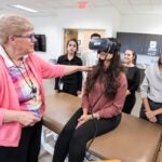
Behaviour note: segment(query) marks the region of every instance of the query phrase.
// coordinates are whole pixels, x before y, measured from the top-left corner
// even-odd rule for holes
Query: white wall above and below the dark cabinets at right
[[[118,31],[162,35],[161,14],[122,14]],[[137,62],[150,64],[156,62],[156,56],[138,55]]]

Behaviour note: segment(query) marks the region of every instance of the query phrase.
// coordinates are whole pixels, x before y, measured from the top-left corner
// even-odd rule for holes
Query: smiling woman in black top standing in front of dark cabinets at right
[[[133,50],[130,49],[125,50],[123,62],[127,79],[127,91],[125,103],[122,110],[125,113],[131,113],[135,105],[136,102],[135,92],[137,91],[140,82],[140,71],[136,67],[136,59],[137,55]]]

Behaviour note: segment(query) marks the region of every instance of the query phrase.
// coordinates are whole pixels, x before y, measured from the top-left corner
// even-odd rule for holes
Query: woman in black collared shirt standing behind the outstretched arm
[[[79,65],[82,66],[82,60],[77,56],[78,41],[70,39],[67,42],[67,53],[62,55],[57,59],[57,64],[63,65]],[[72,95],[80,95],[82,89],[82,72],[78,71],[63,78],[56,78],[55,90],[58,92],[65,92]]]

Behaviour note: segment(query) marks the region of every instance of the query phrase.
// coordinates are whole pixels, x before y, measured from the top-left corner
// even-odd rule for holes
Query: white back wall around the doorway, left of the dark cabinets
[[[57,58],[63,54],[64,28],[105,29],[106,37],[116,36],[120,14],[111,9],[58,10],[54,16],[30,17],[36,33],[46,36],[46,53],[38,52],[44,59]]]

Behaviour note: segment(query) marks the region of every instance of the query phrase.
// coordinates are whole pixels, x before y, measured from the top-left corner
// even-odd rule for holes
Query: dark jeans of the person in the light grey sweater
[[[151,110],[157,110],[157,109],[162,108],[162,103],[154,103],[149,98],[148,98],[148,102],[149,102],[149,106],[150,106]],[[145,119],[145,120],[148,120],[146,114],[145,114],[144,104],[141,104],[139,117]],[[162,124],[162,114],[158,114],[156,117],[157,117],[157,123]]]

